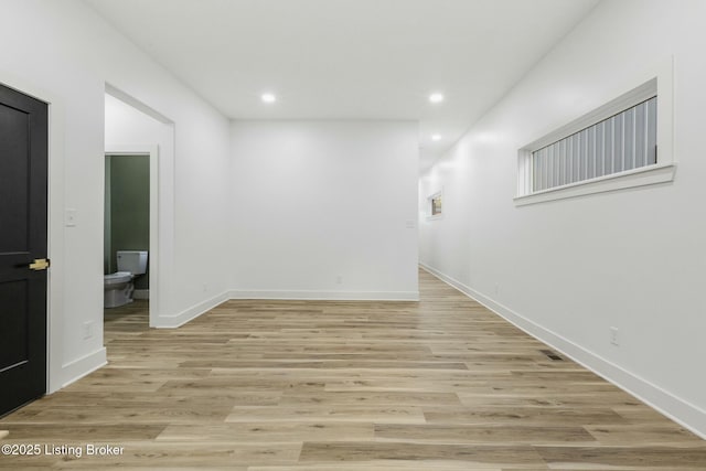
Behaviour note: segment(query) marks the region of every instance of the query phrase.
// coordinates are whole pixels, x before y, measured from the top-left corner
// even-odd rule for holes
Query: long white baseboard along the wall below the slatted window
[[[527,334],[546,343],[706,440],[706,410],[584,349],[570,340],[545,329],[441,271],[421,263],[419,265],[424,270],[483,304]]]

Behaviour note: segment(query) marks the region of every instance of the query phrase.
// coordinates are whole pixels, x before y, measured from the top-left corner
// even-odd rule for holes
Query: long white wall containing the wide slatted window
[[[603,1],[419,185],[446,196],[443,218],[420,220],[425,265],[702,436],[704,18],[703,1]],[[513,204],[517,149],[672,56],[673,182]]]

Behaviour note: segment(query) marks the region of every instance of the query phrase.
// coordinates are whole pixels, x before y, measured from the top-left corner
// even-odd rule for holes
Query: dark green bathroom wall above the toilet
[[[149,250],[149,157],[106,157],[105,200],[104,271],[108,274],[118,270],[116,260],[117,250]],[[136,279],[136,289],[149,289],[148,274]]]

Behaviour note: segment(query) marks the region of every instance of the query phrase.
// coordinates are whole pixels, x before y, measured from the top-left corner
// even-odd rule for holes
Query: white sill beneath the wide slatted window
[[[635,186],[665,183],[674,180],[675,172],[676,163],[657,163],[655,165],[641,167],[627,172],[599,176],[597,179],[557,186],[523,196],[515,196],[514,202],[515,206],[525,206],[528,204],[565,200],[568,197],[584,196],[593,193],[605,193]]]

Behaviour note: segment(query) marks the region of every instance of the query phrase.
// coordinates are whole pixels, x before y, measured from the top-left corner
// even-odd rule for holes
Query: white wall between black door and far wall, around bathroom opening
[[[103,347],[106,83],[174,122],[173,275],[178,324],[224,299],[228,121],[83,2],[8,0],[0,83],[50,101],[50,389],[105,362]],[[203,182],[207,182],[204,184]],[[64,208],[77,210],[64,227]],[[204,290],[203,286],[206,286]],[[84,339],[85,322],[95,334]]]

